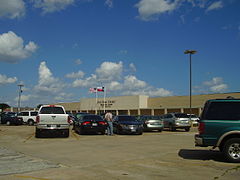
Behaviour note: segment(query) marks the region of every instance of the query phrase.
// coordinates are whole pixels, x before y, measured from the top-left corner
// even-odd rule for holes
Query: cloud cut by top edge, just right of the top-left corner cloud
[[[66,9],[75,0],[32,0],[35,8],[41,8],[43,14],[52,13]]]

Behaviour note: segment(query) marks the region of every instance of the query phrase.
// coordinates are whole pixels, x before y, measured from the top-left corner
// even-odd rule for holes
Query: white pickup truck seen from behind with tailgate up
[[[42,105],[36,117],[35,137],[42,137],[44,131],[61,132],[64,137],[69,137],[70,121],[63,106]]]

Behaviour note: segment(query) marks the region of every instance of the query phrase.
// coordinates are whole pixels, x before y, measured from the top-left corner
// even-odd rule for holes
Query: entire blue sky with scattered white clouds
[[[0,103],[239,92],[239,0],[0,0]],[[103,93],[98,93],[103,97]]]

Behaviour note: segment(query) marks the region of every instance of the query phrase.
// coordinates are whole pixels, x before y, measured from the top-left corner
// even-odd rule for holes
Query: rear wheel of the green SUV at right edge
[[[223,146],[223,154],[229,162],[240,162],[240,138],[227,140]]]

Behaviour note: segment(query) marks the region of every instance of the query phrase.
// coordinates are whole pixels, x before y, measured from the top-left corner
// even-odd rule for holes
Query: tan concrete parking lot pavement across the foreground
[[[36,139],[34,126],[0,126],[0,179],[239,179],[239,164],[194,147],[196,132]]]

